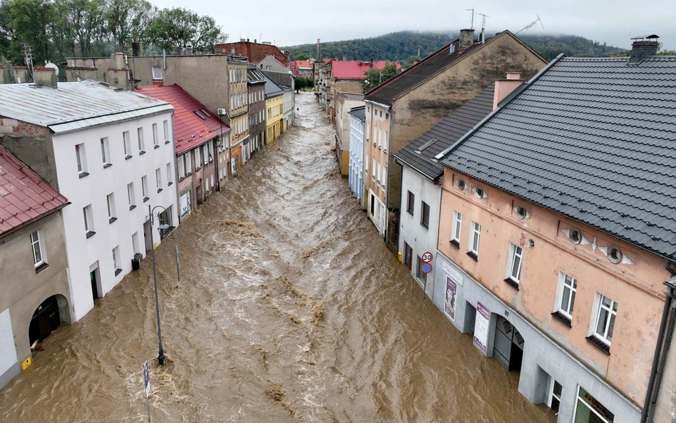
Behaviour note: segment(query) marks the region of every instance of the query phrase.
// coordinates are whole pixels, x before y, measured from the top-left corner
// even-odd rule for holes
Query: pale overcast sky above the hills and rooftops
[[[272,41],[277,46],[341,41],[379,36],[394,31],[453,31],[471,24],[481,29],[486,14],[486,31],[494,34],[508,29],[528,34],[575,34],[629,49],[630,38],[657,34],[665,49],[676,49],[675,0],[150,0],[160,9],[187,7],[216,19],[228,41],[240,38]]]

